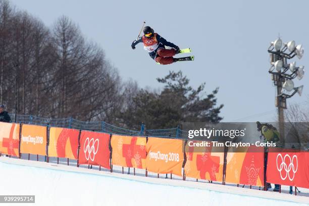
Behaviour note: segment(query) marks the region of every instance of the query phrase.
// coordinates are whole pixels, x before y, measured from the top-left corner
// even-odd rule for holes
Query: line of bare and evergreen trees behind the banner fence
[[[185,121],[219,122],[215,89],[202,97],[181,72],[158,81],[162,91],[141,89],[136,81],[122,81],[106,60],[104,49],[87,41],[66,16],[52,27],[0,0],[0,104],[10,113],[39,117],[73,117],[139,128],[175,127]],[[19,65],[17,68],[15,65]]]

